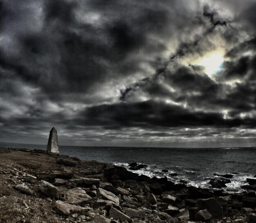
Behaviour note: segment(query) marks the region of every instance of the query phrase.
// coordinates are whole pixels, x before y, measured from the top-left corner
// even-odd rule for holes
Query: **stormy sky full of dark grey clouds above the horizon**
[[[0,0],[0,141],[256,146],[256,1]]]

